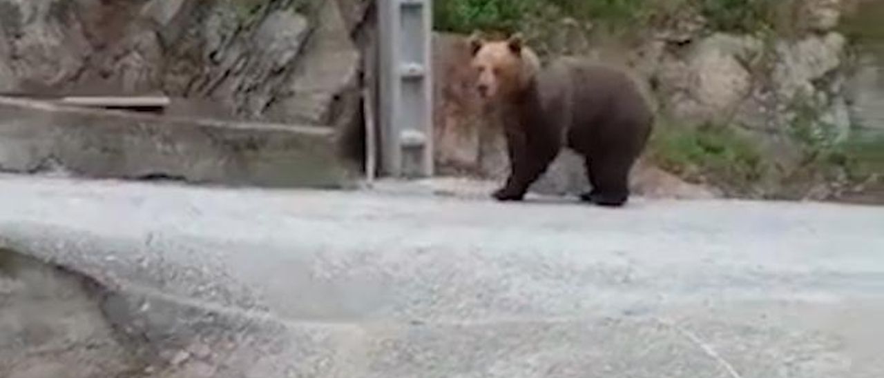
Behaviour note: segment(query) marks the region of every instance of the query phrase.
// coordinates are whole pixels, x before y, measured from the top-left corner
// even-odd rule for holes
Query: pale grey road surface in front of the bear
[[[884,376],[884,208],[389,187],[4,177],[0,246],[115,288],[149,376]]]

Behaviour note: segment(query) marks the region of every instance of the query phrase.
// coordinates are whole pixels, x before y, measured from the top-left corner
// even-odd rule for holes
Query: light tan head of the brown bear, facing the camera
[[[484,100],[518,95],[537,75],[537,55],[522,42],[521,34],[502,41],[485,41],[481,34],[469,37],[472,66],[476,70],[476,91]]]

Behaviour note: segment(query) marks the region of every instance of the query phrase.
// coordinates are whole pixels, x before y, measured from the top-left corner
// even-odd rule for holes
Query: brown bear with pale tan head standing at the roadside
[[[522,200],[561,147],[583,155],[591,192],[580,198],[619,207],[629,171],[651,134],[653,113],[626,72],[576,58],[542,67],[520,34],[486,42],[470,37],[476,90],[503,125],[510,174],[492,195]]]

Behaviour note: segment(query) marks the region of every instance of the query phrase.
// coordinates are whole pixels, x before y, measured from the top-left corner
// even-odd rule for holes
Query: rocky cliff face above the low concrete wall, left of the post
[[[351,35],[368,4],[0,0],[0,91],[163,92],[188,113],[343,125],[359,109]]]

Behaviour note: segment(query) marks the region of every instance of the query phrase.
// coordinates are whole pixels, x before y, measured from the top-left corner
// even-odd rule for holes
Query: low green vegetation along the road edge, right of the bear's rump
[[[884,133],[853,132],[837,140],[834,126],[819,122],[816,110],[796,110],[785,128],[795,162],[785,168],[770,159],[759,137],[739,127],[689,127],[660,123],[648,157],[660,168],[690,182],[710,184],[735,196],[801,198],[825,185],[833,193],[850,193],[864,185],[884,185]]]

